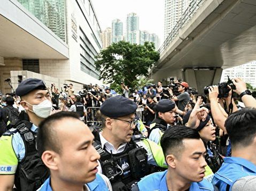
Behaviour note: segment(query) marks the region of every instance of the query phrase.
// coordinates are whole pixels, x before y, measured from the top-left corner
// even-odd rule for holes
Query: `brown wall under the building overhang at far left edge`
[[[22,70],[22,60],[18,57],[4,58],[4,65],[0,65],[0,91],[11,93],[11,87],[4,80],[11,77],[11,70]]]

